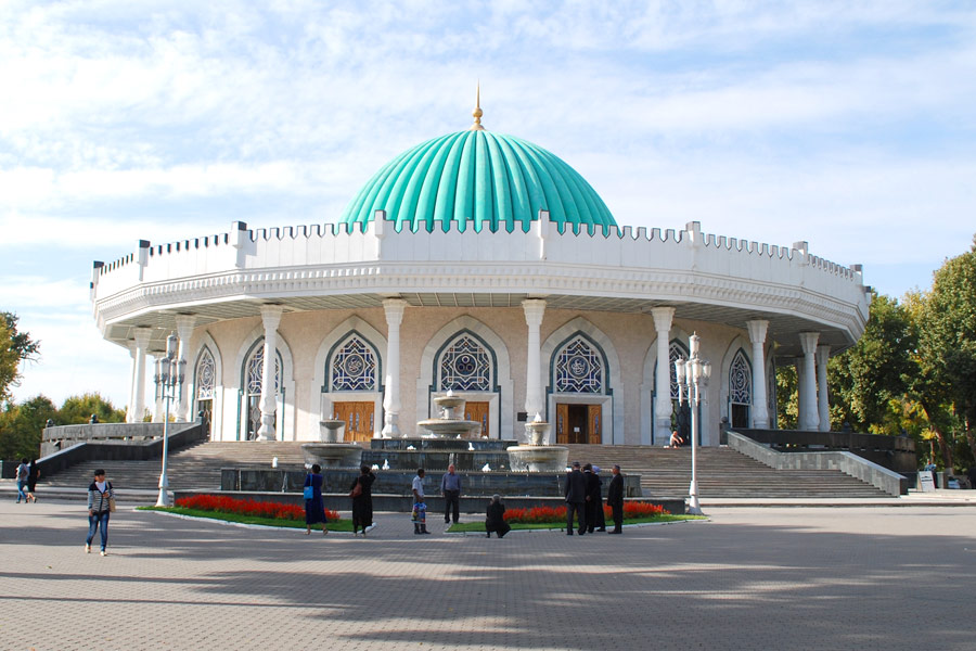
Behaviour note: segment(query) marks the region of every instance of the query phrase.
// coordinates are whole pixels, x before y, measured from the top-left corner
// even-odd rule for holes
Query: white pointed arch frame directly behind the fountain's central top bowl
[[[488,390],[453,391],[468,401],[487,401],[492,414],[489,418],[489,438],[516,438],[512,367],[509,360],[509,347],[495,330],[470,315],[451,320],[440,328],[427,341],[421,355],[420,378],[416,380],[416,414],[418,418],[429,418],[434,413],[434,398],[444,395],[441,390],[442,372],[438,368],[445,353],[463,337],[470,337],[473,344],[484,348],[490,358],[490,380]],[[474,346],[473,346],[474,347]],[[484,384],[479,385],[480,387]]]

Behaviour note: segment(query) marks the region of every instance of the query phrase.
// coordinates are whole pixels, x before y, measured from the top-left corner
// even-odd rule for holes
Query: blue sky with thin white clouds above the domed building
[[[92,260],[334,220],[478,79],[484,125],[621,225],[806,240],[897,297],[976,233],[973,3],[7,0],[0,309],[41,341],[15,398],[128,401]]]

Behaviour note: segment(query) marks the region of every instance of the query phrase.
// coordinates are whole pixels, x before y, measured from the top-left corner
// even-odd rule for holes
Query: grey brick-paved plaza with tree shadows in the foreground
[[[0,502],[0,649],[972,649],[976,507],[370,539]]]

